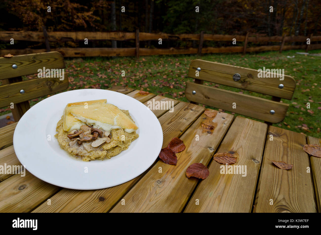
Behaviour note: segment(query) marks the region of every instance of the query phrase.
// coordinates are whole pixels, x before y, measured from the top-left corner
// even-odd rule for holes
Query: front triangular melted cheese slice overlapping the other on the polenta
[[[83,106],[75,106],[68,110],[74,118],[81,122],[105,131],[123,128],[127,133],[132,133],[138,129],[125,113],[112,104],[96,103],[88,105],[88,109],[84,109]]]

